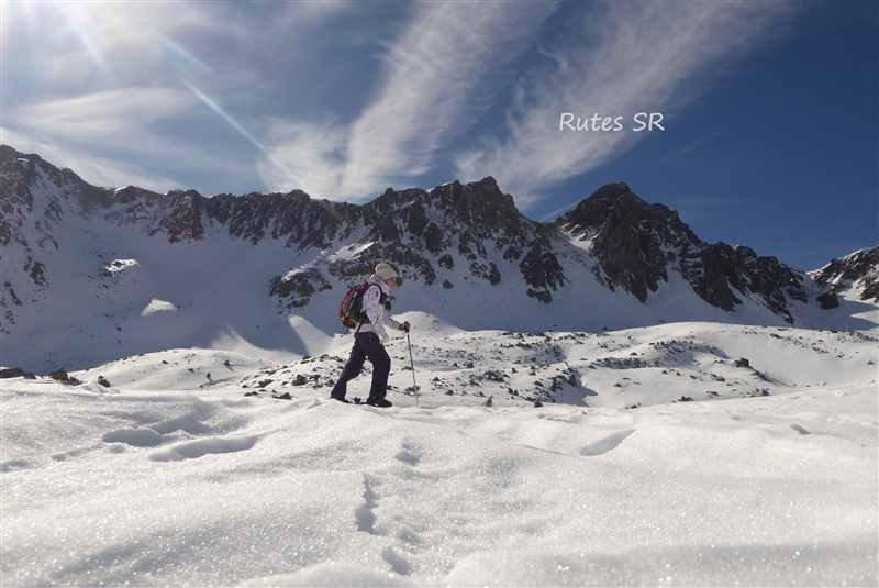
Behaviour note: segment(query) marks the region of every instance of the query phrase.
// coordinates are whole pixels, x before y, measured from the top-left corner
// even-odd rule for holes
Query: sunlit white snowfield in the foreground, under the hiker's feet
[[[404,318],[421,408],[404,339],[386,410],[327,398],[349,337],[0,380],[3,586],[876,585],[875,336]],[[565,402],[522,398],[565,368]]]

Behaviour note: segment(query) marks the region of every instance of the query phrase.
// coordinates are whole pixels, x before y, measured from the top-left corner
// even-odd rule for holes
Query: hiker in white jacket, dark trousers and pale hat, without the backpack
[[[372,364],[372,386],[366,403],[382,408],[392,406],[385,398],[388,392],[388,374],[391,370],[391,358],[385,351],[385,342],[388,341],[385,328],[409,332],[409,322],[400,323],[388,317],[391,308],[389,301],[391,289],[401,284],[399,274],[391,265],[382,263],[376,266],[363,293],[363,311],[366,319],[354,332],[354,348],[338,381],[333,387],[331,398],[348,402],[345,400],[348,380],[356,378],[364,367],[364,360],[369,359]]]

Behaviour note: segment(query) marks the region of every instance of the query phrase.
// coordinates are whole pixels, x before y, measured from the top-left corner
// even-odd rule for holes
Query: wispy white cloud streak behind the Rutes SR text
[[[594,8],[594,7],[592,7]],[[694,78],[752,46],[787,2],[607,1],[583,11],[549,62],[522,80],[507,134],[460,154],[469,179],[486,174],[527,207],[554,184],[581,175],[646,133],[559,132],[561,112],[624,115],[670,111],[698,93]]]

